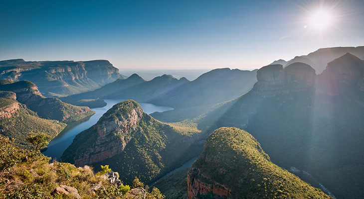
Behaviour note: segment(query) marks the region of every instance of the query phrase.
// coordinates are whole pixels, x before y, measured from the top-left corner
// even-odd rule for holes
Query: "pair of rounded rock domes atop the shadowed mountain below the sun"
[[[257,80],[253,91],[271,97],[281,93],[312,90],[316,73],[311,66],[300,62],[284,69],[280,64],[268,65],[257,71]]]

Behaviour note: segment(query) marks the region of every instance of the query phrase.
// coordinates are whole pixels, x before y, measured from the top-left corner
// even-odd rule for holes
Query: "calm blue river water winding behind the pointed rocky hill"
[[[49,142],[47,145],[48,149],[44,151],[43,154],[48,157],[52,157],[52,159],[59,160],[63,152],[69,145],[71,145],[73,139],[78,133],[96,124],[96,122],[107,110],[109,110],[116,103],[124,101],[124,99],[104,101],[107,103],[106,106],[101,108],[92,108],[92,110],[96,112],[95,114],[79,121],[69,123],[52,141]],[[152,103],[140,103],[140,105],[142,106],[144,112],[148,114],[153,112],[164,112],[173,109],[171,107],[158,106]]]

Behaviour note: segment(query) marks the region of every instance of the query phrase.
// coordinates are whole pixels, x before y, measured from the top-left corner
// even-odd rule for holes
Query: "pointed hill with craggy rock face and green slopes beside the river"
[[[126,100],[78,134],[61,159],[77,166],[109,165],[123,182],[138,177],[150,183],[199,154],[204,136],[197,133],[162,123]]]

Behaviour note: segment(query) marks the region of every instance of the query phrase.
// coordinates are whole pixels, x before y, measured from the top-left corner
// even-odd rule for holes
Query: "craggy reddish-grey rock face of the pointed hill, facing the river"
[[[77,166],[89,165],[121,153],[132,138],[131,131],[143,117],[143,109],[133,100],[118,103],[108,110],[91,128],[97,130],[93,145],[74,158]],[[113,112],[115,112],[113,114]],[[117,139],[117,136],[119,139]]]

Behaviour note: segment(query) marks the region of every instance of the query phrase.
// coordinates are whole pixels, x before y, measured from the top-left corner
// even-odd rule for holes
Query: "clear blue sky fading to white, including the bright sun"
[[[363,10],[364,0],[1,0],[0,60],[253,70],[363,46]]]

